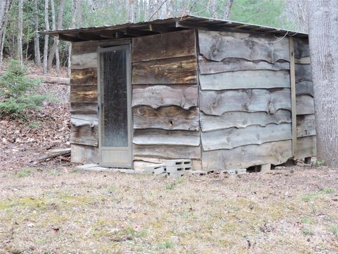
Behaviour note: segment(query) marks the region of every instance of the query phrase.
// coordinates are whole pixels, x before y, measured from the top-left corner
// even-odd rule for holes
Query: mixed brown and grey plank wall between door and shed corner
[[[132,39],[134,167],[193,159],[201,169],[195,30]]]

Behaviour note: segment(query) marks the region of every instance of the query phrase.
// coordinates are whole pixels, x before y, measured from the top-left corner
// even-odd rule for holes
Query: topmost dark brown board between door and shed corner
[[[196,56],[194,30],[168,32],[132,39],[132,62]]]

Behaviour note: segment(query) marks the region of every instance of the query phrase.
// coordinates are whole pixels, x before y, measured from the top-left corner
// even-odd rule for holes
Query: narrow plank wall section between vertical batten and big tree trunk
[[[296,82],[296,158],[316,155],[315,108],[308,39],[294,38]]]

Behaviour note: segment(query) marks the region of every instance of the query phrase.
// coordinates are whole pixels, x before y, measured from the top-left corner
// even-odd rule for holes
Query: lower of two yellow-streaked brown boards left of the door
[[[97,102],[97,87],[94,85],[70,86],[70,102]]]

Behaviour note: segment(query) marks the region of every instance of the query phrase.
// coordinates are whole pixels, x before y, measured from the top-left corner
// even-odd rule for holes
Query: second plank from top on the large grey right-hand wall
[[[282,71],[289,70],[290,63],[268,63],[266,61],[249,61],[239,58],[227,58],[223,61],[208,61],[203,56],[199,56],[199,71],[202,75],[223,73],[227,71],[255,71],[255,70],[271,70]]]

